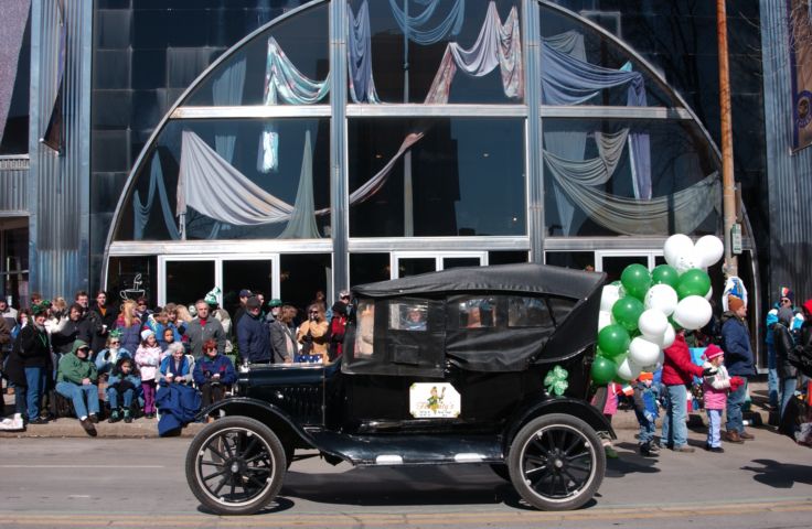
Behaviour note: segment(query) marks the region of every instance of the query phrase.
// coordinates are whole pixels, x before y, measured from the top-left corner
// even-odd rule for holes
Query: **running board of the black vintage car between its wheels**
[[[503,463],[495,435],[348,435],[311,432],[319,450],[356,466]]]

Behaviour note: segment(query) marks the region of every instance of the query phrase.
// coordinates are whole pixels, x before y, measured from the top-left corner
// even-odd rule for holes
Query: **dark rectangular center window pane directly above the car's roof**
[[[522,119],[351,119],[351,236],[526,234],[523,145]]]

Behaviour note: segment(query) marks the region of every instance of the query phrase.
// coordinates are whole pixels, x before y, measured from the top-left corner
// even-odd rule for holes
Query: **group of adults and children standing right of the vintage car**
[[[782,288],[779,301],[768,312],[766,326],[769,346],[770,374],[768,379],[769,403],[781,418],[781,431],[794,434],[800,444],[812,445],[812,417],[803,408],[790,409],[790,403],[806,401],[809,376],[804,358],[812,348],[812,300],[801,307],[794,306],[794,295]],[[723,453],[723,441],[742,444],[755,439],[745,428],[744,409],[748,396],[748,381],[757,375],[750,332],[747,324],[747,302],[738,296],[727,298],[727,310],[715,319],[705,332],[676,333],[674,343],[664,349],[662,369],[641,373],[628,389],[640,431],[639,451],[642,455],[655,455],[661,449],[677,453],[691,453],[688,445],[688,403],[697,400],[707,414],[705,450]],[[692,357],[690,347],[704,348],[702,364]],[[800,366],[800,368],[799,368]],[[690,388],[694,392],[690,392]],[[594,402],[602,403],[602,411],[611,421],[618,409],[618,400],[626,393],[623,387],[610,382],[606,393],[598,393]],[[698,398],[697,398],[698,397]],[[655,421],[662,412],[662,431],[655,440]],[[723,430],[723,413],[725,417]],[[800,422],[800,427],[799,427]],[[806,428],[804,429],[804,424]],[[791,430],[791,431],[788,431]],[[607,454],[617,456],[611,442],[605,440]]]

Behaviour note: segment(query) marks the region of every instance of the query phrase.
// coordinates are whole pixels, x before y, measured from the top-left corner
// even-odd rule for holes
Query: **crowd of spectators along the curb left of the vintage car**
[[[266,304],[249,290],[239,292],[231,315],[218,294],[214,289],[192,305],[154,310],[146,298],[109,303],[104,291],[93,301],[79,291],[71,304],[34,293],[20,310],[0,299],[0,370],[14,393],[14,413],[0,428],[45,424],[60,414],[61,401],[96,435],[103,414],[108,422],[153,419],[162,388],[192,388],[206,407],[225,398],[241,365],[328,363],[341,355],[346,291],[329,310],[318,292],[304,319],[296,306],[278,299]]]

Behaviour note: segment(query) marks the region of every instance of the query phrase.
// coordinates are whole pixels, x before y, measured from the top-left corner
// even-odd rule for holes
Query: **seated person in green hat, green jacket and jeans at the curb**
[[[98,422],[98,375],[89,359],[90,346],[77,339],[73,349],[60,360],[56,392],[73,401],[76,418],[90,436],[96,436]],[[86,403],[85,403],[86,402]]]

